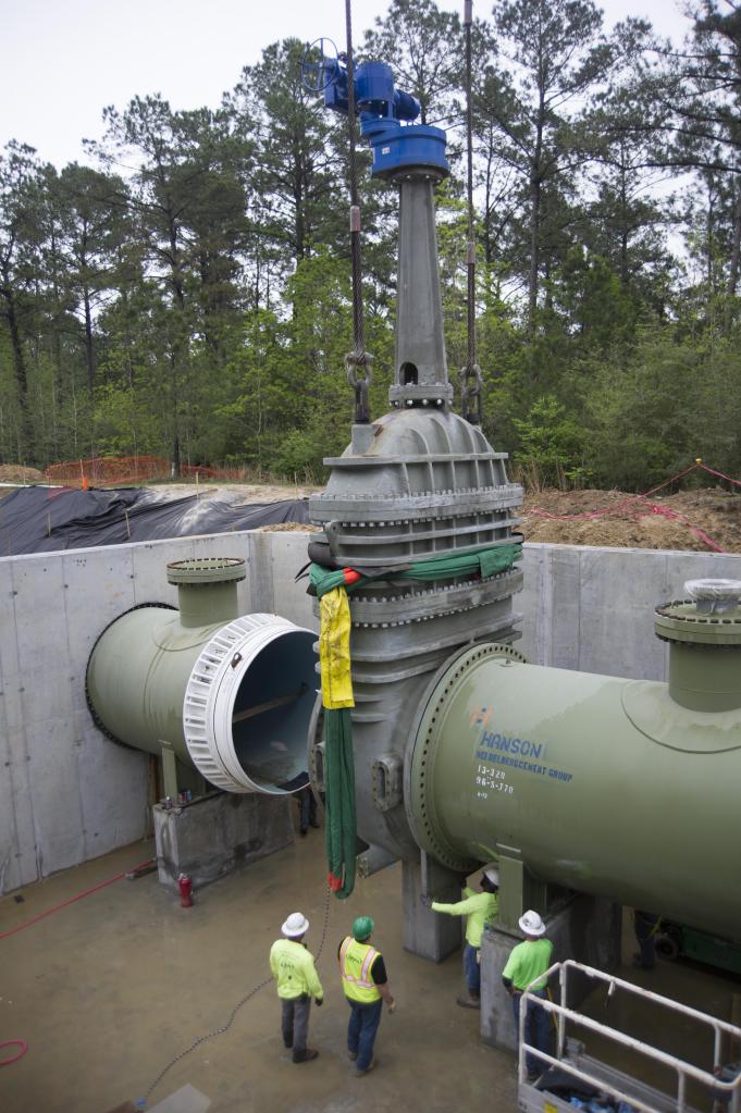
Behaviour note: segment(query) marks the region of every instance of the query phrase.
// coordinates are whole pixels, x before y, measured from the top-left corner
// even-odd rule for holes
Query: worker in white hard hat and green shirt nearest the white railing
[[[518,943],[512,949],[506,966],[502,971],[502,982],[512,997],[512,1013],[517,1042],[520,1042],[520,998],[525,989],[528,989],[536,997],[545,997],[547,989],[545,972],[551,965],[553,944],[550,939],[544,938],[545,924],[536,912],[531,909],[524,913],[517,923],[525,938],[523,943]],[[547,1054],[551,1050],[550,1013],[547,1009],[541,1008],[534,1001],[527,1002],[522,1038],[537,1051]],[[525,1062],[527,1081],[534,1081],[543,1073],[546,1065],[534,1055],[527,1054]]]

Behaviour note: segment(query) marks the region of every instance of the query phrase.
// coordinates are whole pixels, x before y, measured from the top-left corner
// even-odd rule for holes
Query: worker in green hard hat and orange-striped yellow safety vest
[[[355,1063],[358,1075],[367,1074],[378,1065],[373,1045],[384,1001],[389,1013],[396,1007],[388,988],[383,955],[370,944],[375,926],[369,916],[358,916],[353,923],[353,934],[343,939],[337,951],[343,989],[350,1006],[347,1054]]]

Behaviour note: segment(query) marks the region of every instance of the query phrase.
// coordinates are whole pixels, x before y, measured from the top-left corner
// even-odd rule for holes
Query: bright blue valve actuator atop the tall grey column
[[[325,80],[325,105],[347,115],[347,70],[338,60],[328,60]],[[441,177],[449,173],[445,132],[442,128],[413,122],[421,111],[419,101],[394,88],[391,66],[385,62],[358,66],[355,110],[360,118],[360,134],[373,150],[374,176],[391,177],[407,169],[427,169]]]

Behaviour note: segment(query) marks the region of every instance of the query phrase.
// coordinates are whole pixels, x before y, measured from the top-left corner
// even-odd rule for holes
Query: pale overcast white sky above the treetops
[[[353,0],[354,40],[387,0]],[[463,14],[463,0],[438,0]],[[474,16],[492,0],[474,0]],[[649,19],[679,41],[681,0],[603,0],[611,27]],[[161,92],[172,108],[215,108],[241,68],[270,42],[294,36],[345,41],[345,0],[0,0],[0,147],[36,147],[42,161],[87,161],[82,137],[102,135],[107,105]]]

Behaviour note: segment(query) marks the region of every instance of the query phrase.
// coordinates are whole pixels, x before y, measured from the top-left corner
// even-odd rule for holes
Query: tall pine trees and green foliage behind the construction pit
[[[695,456],[739,473],[739,20],[699,0],[674,57],[645,23],[606,37],[601,20],[591,0],[505,0],[473,28],[484,432],[535,483],[640,490]],[[157,453],[320,480],[343,451],[347,131],[304,87],[303,50],[267,47],[216,109],[158,95],[107,108],[95,168],[6,147],[0,461]],[[363,52],[449,129],[438,257],[460,391],[460,19],[393,0]],[[377,417],[395,373],[397,199],[367,149],[357,159]],[[684,196],[662,181],[676,168],[693,174]]]

